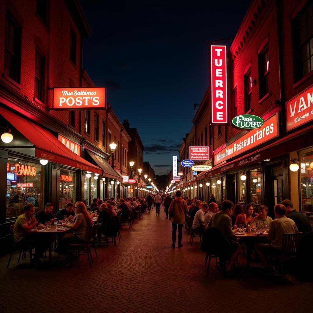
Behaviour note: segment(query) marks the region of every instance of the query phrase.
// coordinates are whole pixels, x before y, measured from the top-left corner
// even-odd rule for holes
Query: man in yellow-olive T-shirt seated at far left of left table
[[[34,217],[35,207],[32,203],[28,203],[24,207],[24,213],[20,215],[14,223],[13,238],[17,247],[35,247],[35,253],[31,260],[32,263],[40,264],[44,251],[48,248],[48,242],[44,242],[46,237],[25,237],[23,232],[28,232],[37,225],[37,220]]]

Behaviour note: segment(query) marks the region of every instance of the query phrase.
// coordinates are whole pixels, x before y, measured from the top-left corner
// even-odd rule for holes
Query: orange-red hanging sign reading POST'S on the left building
[[[105,109],[105,87],[53,88],[51,110]]]

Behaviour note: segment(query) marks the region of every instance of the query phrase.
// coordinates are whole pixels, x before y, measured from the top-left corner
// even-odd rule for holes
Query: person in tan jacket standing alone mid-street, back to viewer
[[[178,226],[178,247],[182,247],[182,226],[185,223],[185,214],[188,213],[187,202],[182,198],[182,192],[177,190],[176,198],[172,200],[168,213],[172,214],[172,247],[175,248]]]

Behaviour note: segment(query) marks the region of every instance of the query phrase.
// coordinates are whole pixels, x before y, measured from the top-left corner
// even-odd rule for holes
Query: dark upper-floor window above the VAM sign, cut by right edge
[[[313,3],[307,5],[294,19],[295,63],[297,80],[313,71]]]

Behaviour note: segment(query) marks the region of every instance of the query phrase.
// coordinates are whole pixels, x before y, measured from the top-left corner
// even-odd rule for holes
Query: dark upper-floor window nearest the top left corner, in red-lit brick
[[[4,74],[20,83],[22,33],[18,23],[7,14],[5,21]]]

